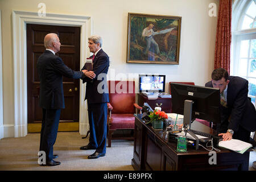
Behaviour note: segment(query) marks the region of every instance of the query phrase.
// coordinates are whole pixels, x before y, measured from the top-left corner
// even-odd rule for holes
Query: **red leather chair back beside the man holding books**
[[[135,81],[108,81],[113,114],[134,114]]]

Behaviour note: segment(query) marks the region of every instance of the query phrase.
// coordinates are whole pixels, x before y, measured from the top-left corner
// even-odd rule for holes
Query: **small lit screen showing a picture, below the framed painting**
[[[139,93],[164,92],[165,85],[165,75],[139,75]]]

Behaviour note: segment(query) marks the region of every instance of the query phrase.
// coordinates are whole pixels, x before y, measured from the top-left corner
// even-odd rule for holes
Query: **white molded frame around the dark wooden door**
[[[54,26],[80,27],[80,69],[84,66],[86,57],[90,56],[87,50],[88,38],[92,32],[92,18],[90,16],[46,14],[13,10],[13,65],[14,65],[14,137],[27,135],[27,36],[26,24],[47,24]],[[80,80],[80,110],[79,133],[85,135],[89,130],[87,103],[85,98],[85,84]]]

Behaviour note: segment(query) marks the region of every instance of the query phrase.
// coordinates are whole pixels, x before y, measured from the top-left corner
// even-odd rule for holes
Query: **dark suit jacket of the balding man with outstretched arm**
[[[84,73],[68,68],[60,57],[51,51],[39,56],[36,64],[40,78],[40,107],[43,109],[64,109],[63,78],[82,78]]]

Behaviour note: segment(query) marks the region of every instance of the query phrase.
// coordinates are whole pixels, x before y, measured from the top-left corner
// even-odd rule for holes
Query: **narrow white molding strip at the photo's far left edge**
[[[0,139],[3,138],[3,68],[2,68],[2,27],[0,10]]]

